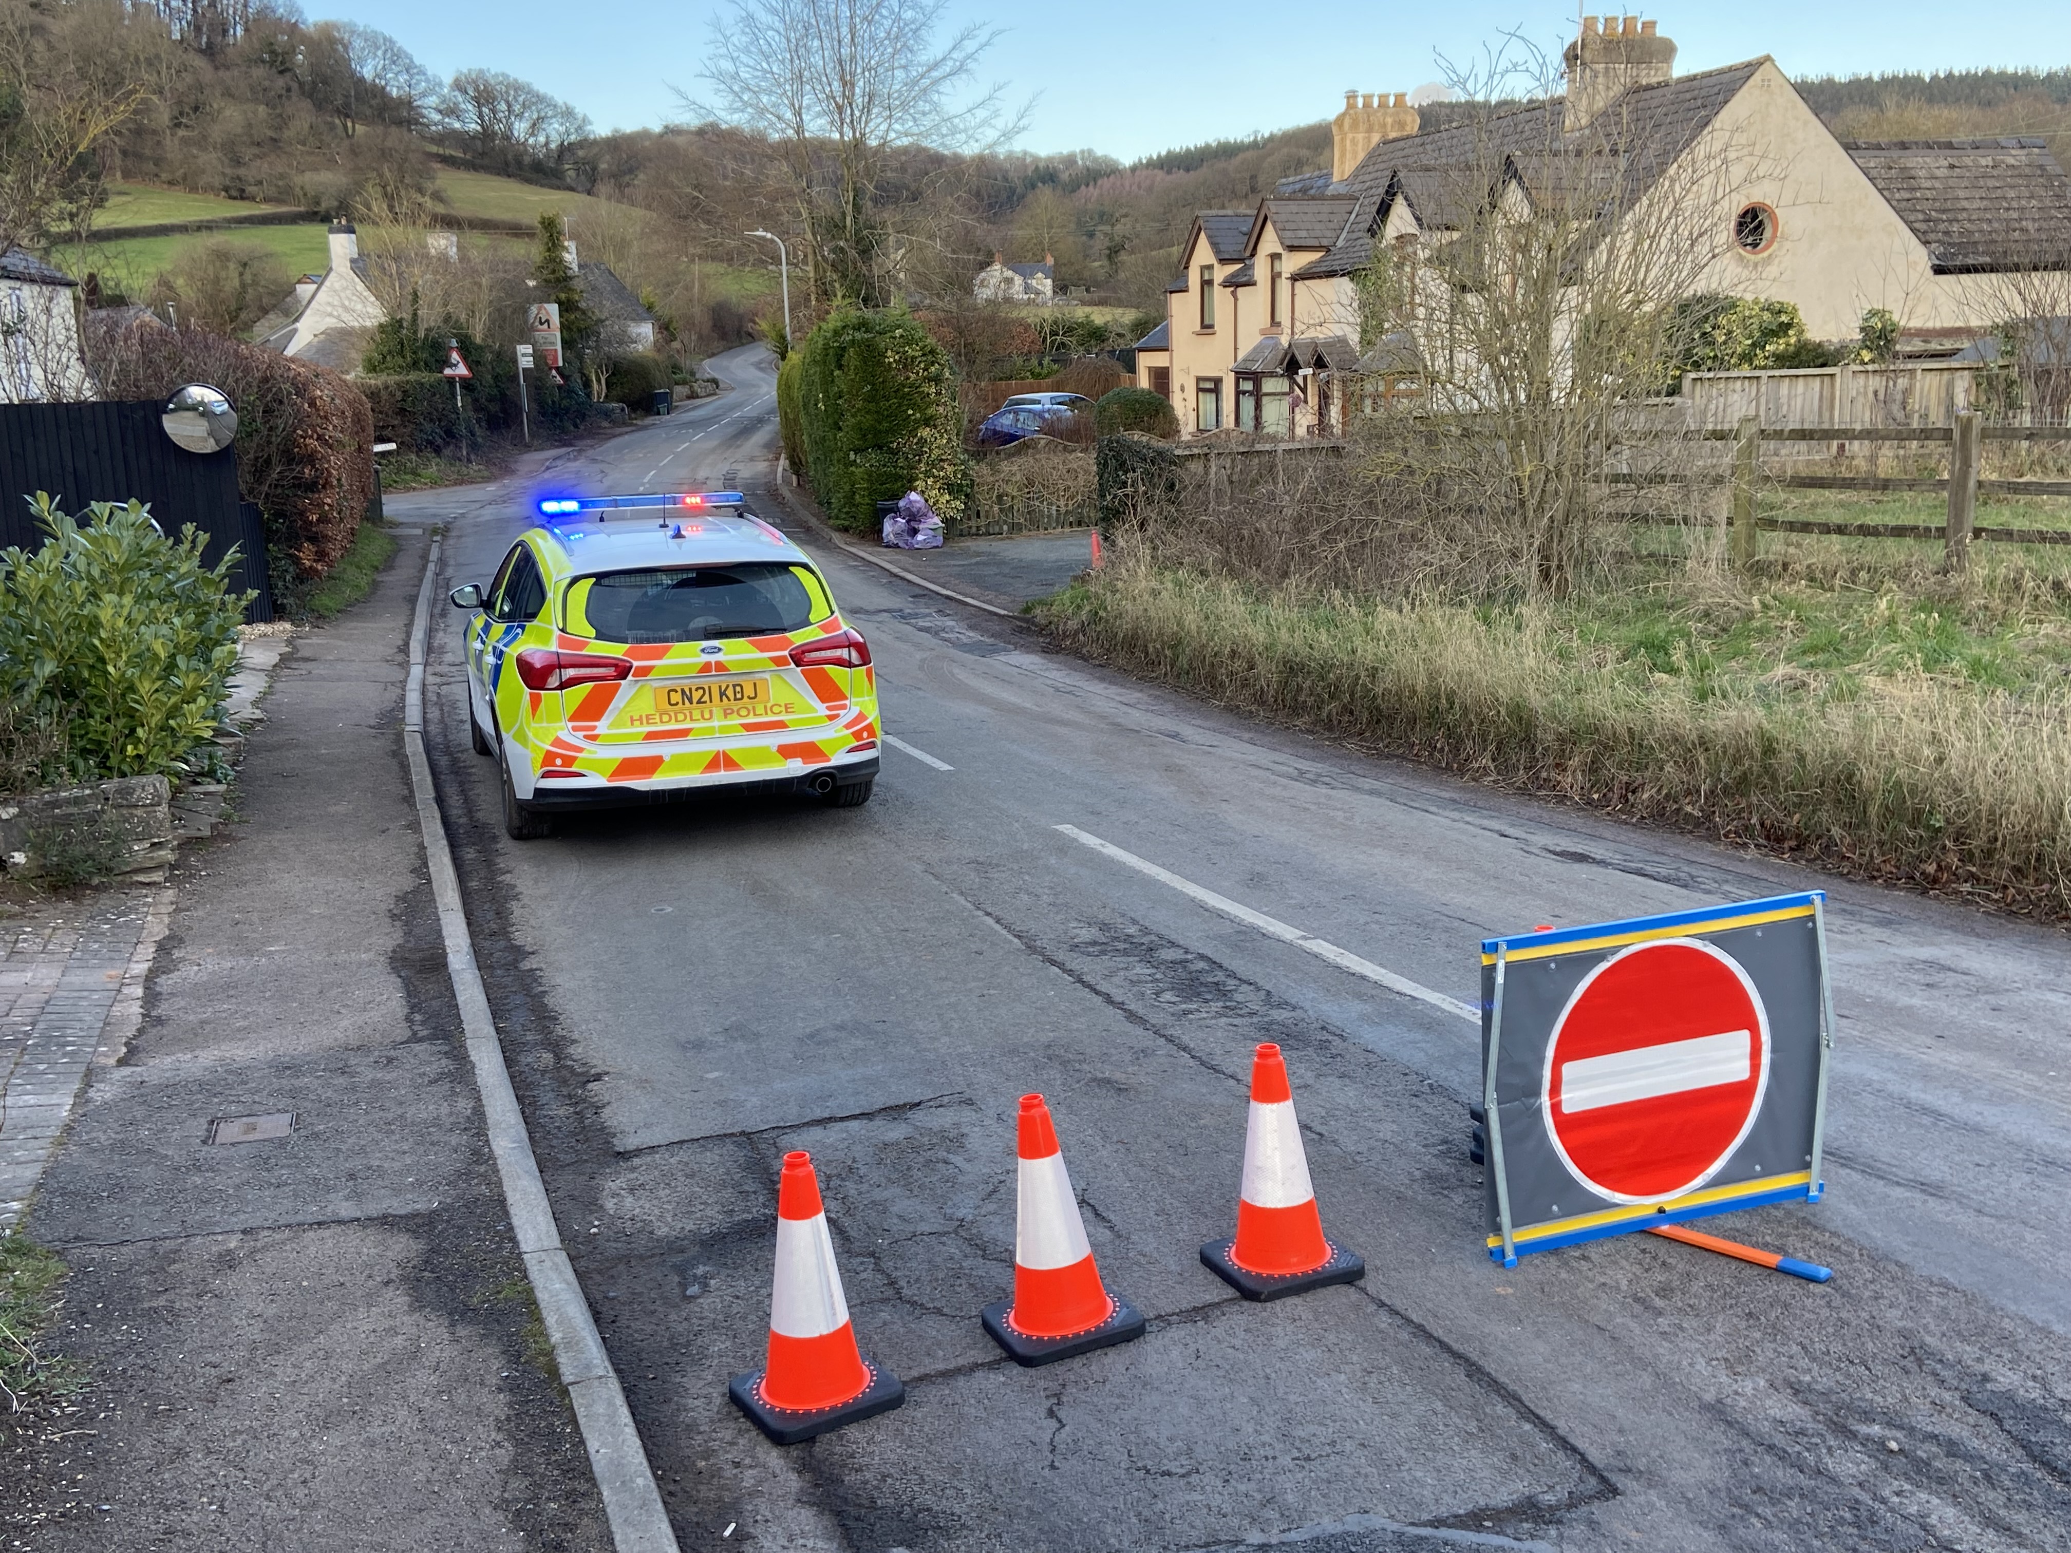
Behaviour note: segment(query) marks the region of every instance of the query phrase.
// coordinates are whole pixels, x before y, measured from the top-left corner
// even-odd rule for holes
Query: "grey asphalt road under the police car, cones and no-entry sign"
[[[768,489],[768,369],[714,364],[731,395],[551,478]],[[391,511],[449,524],[454,586],[489,576],[524,495]],[[714,799],[509,843],[468,754],[458,613],[433,677],[491,998],[686,1549],[2071,1547],[2061,936],[1257,727],[762,511],[822,557],[886,731],[932,758],[886,750],[868,808]],[[1825,884],[1829,1197],[1725,1232],[1835,1282],[1653,1236],[1501,1271],[1464,1149],[1472,1025],[1067,824],[1460,1000],[1487,932]],[[1369,1267],[1270,1307],[1197,1261],[1232,1226],[1259,1039],[1288,1052],[1325,1226]],[[1036,1371],[978,1325],[1011,1280],[1027,1089],[1151,1319]],[[725,1383],[758,1362],[791,1147],[907,1404],[777,1449]]]

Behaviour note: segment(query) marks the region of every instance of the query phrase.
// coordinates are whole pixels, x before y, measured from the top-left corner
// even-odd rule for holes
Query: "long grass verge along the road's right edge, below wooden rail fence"
[[[2052,592],[1493,609],[1118,557],[1036,609],[1089,656],[1497,787],[2071,917],[2071,623]]]

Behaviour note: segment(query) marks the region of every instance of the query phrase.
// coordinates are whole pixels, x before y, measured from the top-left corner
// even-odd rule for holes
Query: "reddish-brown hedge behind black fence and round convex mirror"
[[[201,329],[106,335],[95,373],[110,400],[164,400],[213,383],[238,410],[238,489],[265,514],[275,603],[294,607],[352,545],[375,491],[367,395],[338,373]]]

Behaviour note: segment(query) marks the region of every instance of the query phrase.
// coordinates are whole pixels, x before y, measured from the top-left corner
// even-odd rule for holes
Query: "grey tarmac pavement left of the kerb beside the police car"
[[[427,547],[408,534],[369,603],[294,640],[236,822],[180,851],[141,1025],[87,1071],[29,1207],[72,1267],[48,1346],[95,1385],[66,1431],[0,1458],[0,1547],[609,1547],[402,764]],[[25,971],[48,981],[50,953]],[[68,967],[118,986],[128,953]]]

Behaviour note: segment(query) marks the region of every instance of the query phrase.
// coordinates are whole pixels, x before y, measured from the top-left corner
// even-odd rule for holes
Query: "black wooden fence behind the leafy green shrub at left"
[[[188,453],[159,427],[164,406],[145,404],[0,404],[0,547],[43,543],[29,497],[50,491],[64,511],[89,501],[143,501],[168,534],[193,524],[207,534],[213,565],[232,545],[234,592],[257,588],[251,621],[273,619],[265,569],[265,520],[238,499],[236,449]]]

